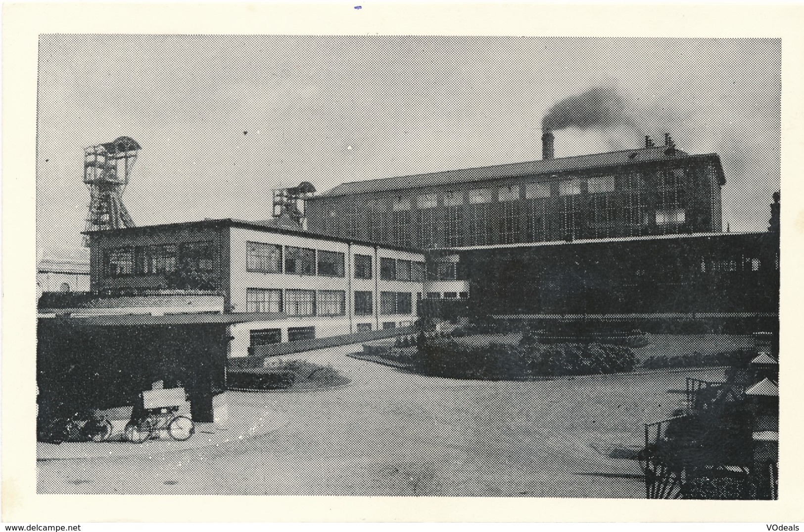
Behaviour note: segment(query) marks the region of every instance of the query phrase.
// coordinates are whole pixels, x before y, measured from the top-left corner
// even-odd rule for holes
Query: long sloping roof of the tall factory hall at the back
[[[505,177],[523,177],[539,174],[572,172],[575,170],[606,168],[625,164],[642,164],[662,160],[712,160],[716,162],[720,185],[725,184],[720,157],[716,153],[708,155],[689,155],[675,150],[667,154],[667,146],[639,148],[621,152],[593,153],[560,159],[532,160],[514,164],[498,164],[482,168],[447,170],[437,173],[423,173],[415,176],[384,177],[370,181],[352,181],[336,186],[320,197],[343,196],[347,194],[374,193],[387,190],[412,189],[431,185],[449,185],[472,181],[488,181]],[[315,201],[317,197],[311,198]]]

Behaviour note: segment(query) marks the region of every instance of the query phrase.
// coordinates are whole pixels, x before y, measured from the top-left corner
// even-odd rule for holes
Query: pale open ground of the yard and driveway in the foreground
[[[541,382],[449,380],[352,359],[293,355],[351,384],[263,392],[275,433],[151,457],[39,462],[39,493],[644,497],[642,423],[670,414],[686,376],[650,372]],[[613,458],[614,457],[614,458]]]

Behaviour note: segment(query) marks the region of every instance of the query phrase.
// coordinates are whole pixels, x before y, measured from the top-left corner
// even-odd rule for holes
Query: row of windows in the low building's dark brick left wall
[[[107,277],[169,274],[185,271],[210,272],[215,267],[212,242],[186,242],[156,246],[129,246],[104,251]]]

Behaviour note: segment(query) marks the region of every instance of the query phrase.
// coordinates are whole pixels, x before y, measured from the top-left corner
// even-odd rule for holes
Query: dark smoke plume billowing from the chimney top
[[[557,131],[578,129],[637,129],[633,104],[614,87],[592,87],[579,95],[568,96],[552,106],[542,119],[542,129]]]

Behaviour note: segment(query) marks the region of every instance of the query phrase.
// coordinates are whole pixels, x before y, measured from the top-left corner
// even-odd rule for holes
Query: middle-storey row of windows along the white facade
[[[285,312],[291,316],[346,315],[346,292],[343,290],[281,290],[278,288],[246,289],[246,312]],[[373,294],[355,291],[355,315],[374,313]],[[412,314],[412,294],[380,292],[380,314]]]

